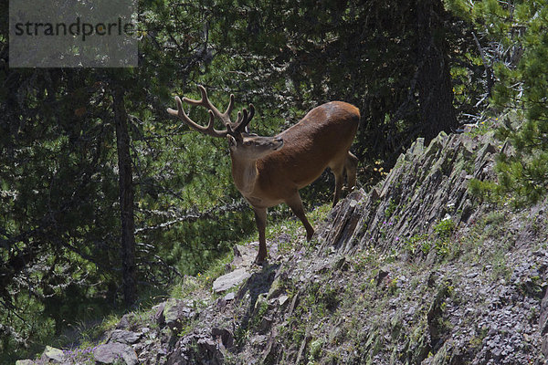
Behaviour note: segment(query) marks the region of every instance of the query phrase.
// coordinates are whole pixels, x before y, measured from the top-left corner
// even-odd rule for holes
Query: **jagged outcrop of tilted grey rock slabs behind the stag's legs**
[[[370,193],[354,192],[332,210],[319,233],[322,245],[344,254],[369,245],[393,249],[408,237],[431,232],[444,218],[468,222],[469,180],[493,178],[498,151],[492,133],[442,132],[427,148],[418,139]]]

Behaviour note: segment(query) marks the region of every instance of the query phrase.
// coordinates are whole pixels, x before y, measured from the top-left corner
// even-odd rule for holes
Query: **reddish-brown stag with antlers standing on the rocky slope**
[[[177,110],[167,111],[195,130],[228,139],[234,183],[255,211],[259,243],[255,262],[260,264],[267,258],[265,228],[267,208],[271,206],[287,203],[304,224],[306,238],[310,240],[314,229],[304,214],[299,189],[316,180],[327,167],[335,175],[333,206],[341,196],[343,172],[349,187],[353,188],[358,159],[349,149],[358,129],[360,111],[351,104],[332,101],[314,108],[299,123],[277,136],[259,137],[247,128],[255,114],[252,104],[249,111],[238,112],[237,121],[233,123],[230,113],[234,108],[234,95],[230,95],[227,110],[221,113],[207,98],[204,87],[198,86],[198,89],[202,99],[183,98],[183,101],[208,110],[206,127],[186,115],[179,97],[175,97]],[[216,130],[215,119],[221,120],[226,129]]]

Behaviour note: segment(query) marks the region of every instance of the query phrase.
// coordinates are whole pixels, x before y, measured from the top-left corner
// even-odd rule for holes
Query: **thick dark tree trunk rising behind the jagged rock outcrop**
[[[445,9],[440,0],[416,2],[416,86],[422,130],[427,141],[435,138],[441,130],[450,132],[457,127],[444,16]]]

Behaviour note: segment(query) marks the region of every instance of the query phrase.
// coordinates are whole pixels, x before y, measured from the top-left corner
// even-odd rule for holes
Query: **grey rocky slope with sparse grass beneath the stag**
[[[516,212],[468,191],[505,148],[490,133],[418,140],[311,244],[280,233],[264,267],[238,246],[211,289],[187,277],[186,296],[97,346],[20,364],[545,364],[546,202]]]

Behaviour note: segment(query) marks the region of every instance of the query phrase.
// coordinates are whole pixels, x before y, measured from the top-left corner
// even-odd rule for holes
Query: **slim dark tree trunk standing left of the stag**
[[[132,159],[130,156],[128,116],[123,104],[124,92],[120,87],[115,87],[113,91],[112,97],[114,120],[116,123],[116,144],[118,148],[118,170],[120,173],[122,287],[124,303],[126,307],[130,307],[137,298]]]

